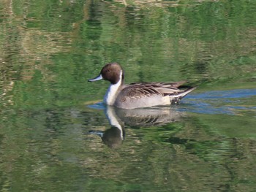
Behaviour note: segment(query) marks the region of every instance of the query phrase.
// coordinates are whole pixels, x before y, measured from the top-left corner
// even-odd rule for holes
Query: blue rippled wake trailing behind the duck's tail
[[[180,110],[204,114],[238,115],[238,111],[256,112],[256,89],[208,91],[190,94]],[[241,115],[241,112],[239,112]]]

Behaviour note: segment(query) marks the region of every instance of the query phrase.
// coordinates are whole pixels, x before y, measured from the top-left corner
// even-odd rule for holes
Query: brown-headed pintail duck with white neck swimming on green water
[[[123,109],[152,107],[177,103],[195,88],[183,89],[183,82],[138,82],[124,85],[124,71],[117,63],[106,64],[100,74],[89,82],[110,81],[110,87],[104,97],[105,104]]]

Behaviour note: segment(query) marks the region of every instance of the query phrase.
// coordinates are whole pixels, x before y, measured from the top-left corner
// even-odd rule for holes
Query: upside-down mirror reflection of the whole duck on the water
[[[124,141],[124,124],[132,127],[161,126],[175,122],[184,116],[184,112],[178,112],[171,107],[150,107],[134,110],[124,110],[112,106],[106,106],[105,115],[111,125],[106,131],[89,131],[102,138],[102,142],[108,147],[120,147]]]

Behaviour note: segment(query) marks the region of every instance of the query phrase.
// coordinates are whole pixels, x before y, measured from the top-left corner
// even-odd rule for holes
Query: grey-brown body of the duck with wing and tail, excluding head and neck
[[[133,109],[177,103],[195,88],[176,88],[178,84],[141,82],[124,85],[116,98],[116,107]],[[170,99],[170,100],[169,100]]]

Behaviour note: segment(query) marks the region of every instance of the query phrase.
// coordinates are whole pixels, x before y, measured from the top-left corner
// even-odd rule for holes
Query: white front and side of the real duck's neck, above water
[[[104,97],[104,103],[108,105],[113,105],[116,101],[116,97],[118,96],[118,92],[121,90],[121,86],[124,84],[124,76],[121,71],[118,82],[115,84],[110,84],[108,91]]]

